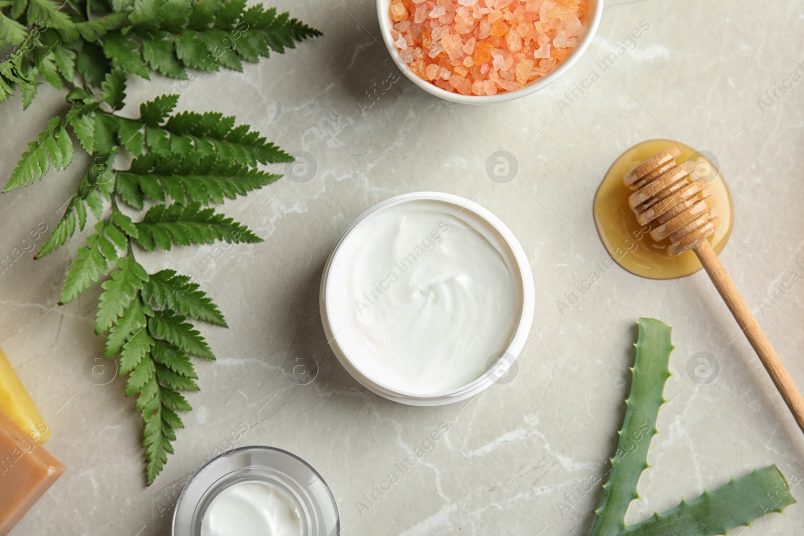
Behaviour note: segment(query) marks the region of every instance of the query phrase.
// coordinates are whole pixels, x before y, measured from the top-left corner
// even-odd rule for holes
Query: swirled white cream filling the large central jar
[[[466,386],[507,349],[519,322],[522,298],[507,259],[498,231],[453,203],[379,208],[344,237],[330,267],[327,313],[334,330],[343,325],[338,346],[363,375],[395,391]]]

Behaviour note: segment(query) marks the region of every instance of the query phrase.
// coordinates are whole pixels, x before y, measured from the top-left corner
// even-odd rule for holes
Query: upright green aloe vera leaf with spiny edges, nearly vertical
[[[611,458],[609,481],[603,485],[604,494],[591,536],[617,536],[626,528],[628,505],[637,494],[637,482],[648,467],[650,440],[656,434],[658,408],[664,384],[670,376],[668,364],[674,346],[671,328],[654,318],[640,318],[636,358],[631,369],[631,392],[626,399],[626,418],[620,430],[617,452]]]

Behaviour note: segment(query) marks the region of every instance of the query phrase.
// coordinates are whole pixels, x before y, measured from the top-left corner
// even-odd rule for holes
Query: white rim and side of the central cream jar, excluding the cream
[[[519,310],[517,311],[517,325],[514,336],[511,338],[511,343],[504,351],[503,356],[499,358],[498,362],[486,370],[480,378],[466,384],[463,387],[453,389],[444,393],[437,393],[433,395],[420,395],[416,393],[400,391],[394,387],[379,383],[364,374],[359,366],[355,365],[340,344],[341,339],[346,340],[345,335],[346,321],[345,313],[347,305],[343,300],[337,299],[340,295],[338,288],[343,288],[346,282],[338,276],[333,276],[332,272],[338,272],[343,268],[333,268],[335,266],[343,266],[347,264],[347,260],[338,257],[338,252],[341,244],[347,236],[352,232],[363,232],[358,228],[359,223],[367,218],[368,215],[381,211],[385,208],[391,207],[398,203],[405,203],[415,199],[433,199],[445,203],[449,203],[458,207],[460,211],[467,211],[472,213],[478,218],[482,224],[490,231],[494,232],[496,241],[498,241],[501,248],[498,251],[503,255],[506,260],[511,274],[514,278],[516,285],[516,293],[519,298]],[[459,402],[468,399],[471,396],[477,395],[507,372],[508,368],[513,365],[519,352],[522,351],[525,342],[527,342],[527,334],[530,332],[531,323],[533,321],[533,308],[534,308],[534,288],[533,288],[533,274],[531,272],[531,265],[527,260],[527,255],[519,244],[519,241],[514,236],[514,233],[502,222],[497,216],[492,214],[488,209],[481,207],[478,203],[473,203],[469,199],[462,198],[453,194],[443,194],[440,192],[414,192],[412,194],[397,195],[396,197],[386,199],[382,203],[378,203],[367,211],[359,215],[354,222],[343,231],[338,243],[335,244],[329,259],[326,261],[324,272],[321,279],[321,293],[320,293],[320,309],[321,320],[326,333],[326,339],[330,342],[335,357],[341,362],[343,367],[351,374],[359,383],[363,384],[367,389],[374,391],[377,395],[383,396],[395,402],[404,403],[412,406],[441,406],[444,404]]]

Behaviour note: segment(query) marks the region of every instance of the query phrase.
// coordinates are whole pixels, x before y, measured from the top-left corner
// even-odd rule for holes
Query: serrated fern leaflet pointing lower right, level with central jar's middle
[[[228,327],[224,315],[207,294],[199,290],[199,285],[173,270],[152,274],[142,288],[142,297],[146,301],[153,300],[160,309],[170,309],[195,320]]]

